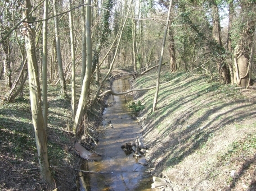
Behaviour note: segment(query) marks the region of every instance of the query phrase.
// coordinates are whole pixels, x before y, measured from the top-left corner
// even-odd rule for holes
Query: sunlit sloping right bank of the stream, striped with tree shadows
[[[155,85],[156,71],[133,88]],[[145,109],[138,119],[146,159],[166,190],[256,190],[256,86],[220,85],[201,74],[163,71],[155,90],[134,93]],[[163,189],[163,188],[162,188]]]

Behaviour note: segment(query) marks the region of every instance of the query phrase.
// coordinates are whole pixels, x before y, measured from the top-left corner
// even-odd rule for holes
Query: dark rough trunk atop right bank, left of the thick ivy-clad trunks
[[[227,66],[224,63],[223,55],[223,45],[221,41],[221,25],[219,22],[219,8],[215,0],[212,1],[212,15],[213,15],[213,39],[217,43],[217,50],[218,50],[218,58],[217,60],[217,67],[219,76],[221,78],[222,83],[230,83],[230,75],[228,75]]]

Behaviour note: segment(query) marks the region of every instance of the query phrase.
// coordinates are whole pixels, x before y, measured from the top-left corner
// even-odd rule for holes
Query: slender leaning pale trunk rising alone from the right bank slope
[[[153,108],[152,108],[153,112],[156,110],[156,104],[158,103],[158,92],[159,92],[159,83],[160,83],[159,81],[160,81],[160,74],[161,74],[161,65],[162,65],[162,62],[163,62],[164,46],[165,46],[165,40],[166,40],[166,36],[167,36],[167,30],[168,30],[169,17],[170,17],[170,11],[171,10],[172,10],[172,0],[170,0],[167,22],[166,22],[166,26],[165,26],[165,30],[164,30],[163,46],[162,46],[162,49],[161,49],[161,56],[160,56],[160,60],[159,60],[158,76],[156,78],[156,91],[155,91],[155,97],[154,97]]]

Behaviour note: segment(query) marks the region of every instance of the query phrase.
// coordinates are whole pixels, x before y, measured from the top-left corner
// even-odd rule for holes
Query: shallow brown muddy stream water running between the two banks
[[[122,92],[130,88],[128,78],[113,82],[113,90]],[[140,163],[145,159],[136,159],[133,153],[125,153],[121,146],[126,142],[133,142],[137,135],[141,135],[141,128],[137,121],[131,119],[129,110],[125,107],[125,99],[132,100],[132,96],[109,96],[109,106],[103,115],[102,129],[111,124],[113,128],[106,128],[101,132],[95,151],[103,158],[101,161],[84,162],[82,170],[101,172],[84,174],[80,184],[86,184],[81,190],[151,190],[149,174],[144,171],[147,167]],[[140,163],[139,163],[140,162]]]

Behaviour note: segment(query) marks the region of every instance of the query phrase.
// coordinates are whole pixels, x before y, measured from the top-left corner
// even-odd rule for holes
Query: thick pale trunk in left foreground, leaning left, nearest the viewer
[[[30,0],[26,0],[23,6],[23,17],[26,17],[32,10]],[[28,21],[32,21],[32,16],[28,17]],[[26,54],[28,57],[30,105],[35,131],[35,142],[37,144],[39,166],[42,178],[51,185],[52,176],[48,162],[47,137],[44,129],[44,120],[41,107],[41,90],[38,76],[37,58],[35,57],[35,33],[34,28],[28,23],[24,23],[24,29]]]

